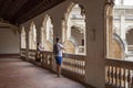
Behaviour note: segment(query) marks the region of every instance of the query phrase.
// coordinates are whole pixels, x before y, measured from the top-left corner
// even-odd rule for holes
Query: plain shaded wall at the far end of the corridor
[[[19,33],[10,28],[0,28],[0,54],[19,54]]]

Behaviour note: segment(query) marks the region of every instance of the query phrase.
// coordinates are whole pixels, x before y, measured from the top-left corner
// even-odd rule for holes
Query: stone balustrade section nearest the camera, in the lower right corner
[[[105,80],[111,88],[133,88],[133,62],[105,59]]]

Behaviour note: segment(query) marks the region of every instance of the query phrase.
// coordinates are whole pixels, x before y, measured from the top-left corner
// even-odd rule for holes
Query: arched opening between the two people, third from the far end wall
[[[50,15],[45,15],[41,28],[41,45],[45,51],[53,47],[53,24]]]

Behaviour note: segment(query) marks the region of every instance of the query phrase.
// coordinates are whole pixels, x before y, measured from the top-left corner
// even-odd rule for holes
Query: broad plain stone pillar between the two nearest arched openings
[[[105,88],[104,1],[90,0],[85,6],[88,51],[85,81],[95,88]]]

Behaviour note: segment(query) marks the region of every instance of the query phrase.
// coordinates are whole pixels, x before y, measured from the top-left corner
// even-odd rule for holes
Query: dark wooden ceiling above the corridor
[[[64,0],[0,0],[0,20],[23,23]]]

